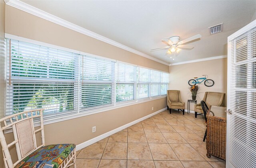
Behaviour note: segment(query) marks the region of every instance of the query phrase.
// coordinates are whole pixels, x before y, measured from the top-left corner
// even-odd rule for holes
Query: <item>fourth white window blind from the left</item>
[[[137,97],[138,99],[150,97],[151,70],[138,67],[138,84]]]

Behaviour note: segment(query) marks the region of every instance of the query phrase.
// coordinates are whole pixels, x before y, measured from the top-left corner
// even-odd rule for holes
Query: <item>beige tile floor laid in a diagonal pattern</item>
[[[204,116],[163,111],[77,152],[77,168],[225,168],[206,156]]]

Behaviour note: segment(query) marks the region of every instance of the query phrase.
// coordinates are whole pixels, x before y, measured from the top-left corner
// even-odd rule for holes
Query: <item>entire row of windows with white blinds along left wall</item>
[[[168,73],[7,40],[6,115],[39,108],[46,117],[89,113],[166,95]]]

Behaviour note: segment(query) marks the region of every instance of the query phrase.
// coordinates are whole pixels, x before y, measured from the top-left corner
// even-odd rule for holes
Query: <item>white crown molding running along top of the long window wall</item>
[[[72,30],[77,31],[79,33],[82,33],[84,35],[88,35],[88,36],[90,36],[90,37],[92,37],[94,39],[98,39],[98,40],[103,41],[105,43],[108,43],[110,45],[114,45],[116,47],[119,47],[121,49],[129,51],[131,53],[140,55],[140,56],[145,57],[147,59],[151,59],[151,60],[156,61],[158,63],[169,65],[169,63],[166,63],[166,62],[164,62],[162,60],[156,59],[156,58],[154,58],[152,56],[146,55],[146,54],[144,54],[144,53],[142,53],[140,51],[137,51],[135,49],[127,47],[126,45],[122,45],[121,43],[118,43],[118,42],[116,42],[114,40],[108,39],[107,37],[104,37],[102,35],[94,33],[94,32],[92,32],[90,30],[84,29],[83,27],[80,27],[78,25],[70,23],[69,21],[66,21],[66,20],[63,20],[61,18],[58,18],[57,16],[54,16],[54,15],[49,14],[47,12],[44,12],[43,10],[35,8],[34,6],[31,6],[29,4],[21,2],[19,0],[4,0],[4,1],[5,1],[6,5],[12,6],[14,8],[17,8],[19,10],[22,10],[22,11],[27,12],[29,14],[32,14],[34,16],[38,16],[40,18],[43,18],[43,19],[48,20],[48,21],[51,21],[51,22],[56,23],[58,25],[62,25],[64,27],[68,28],[68,29],[72,29]]]

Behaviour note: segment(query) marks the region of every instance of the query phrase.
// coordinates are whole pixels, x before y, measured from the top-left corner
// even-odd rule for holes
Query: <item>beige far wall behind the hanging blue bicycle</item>
[[[222,92],[227,93],[227,59],[215,59],[210,61],[202,61],[197,63],[180,64],[169,67],[170,83],[169,90],[180,90],[182,101],[185,102],[187,109],[188,99],[191,99],[189,94],[188,80],[194,77],[203,77],[203,74],[208,75],[209,79],[214,80],[215,84],[212,87],[206,87],[203,83],[200,84],[200,94],[196,100],[198,103],[204,98],[205,92]],[[190,109],[194,111],[193,104],[190,104]]]

